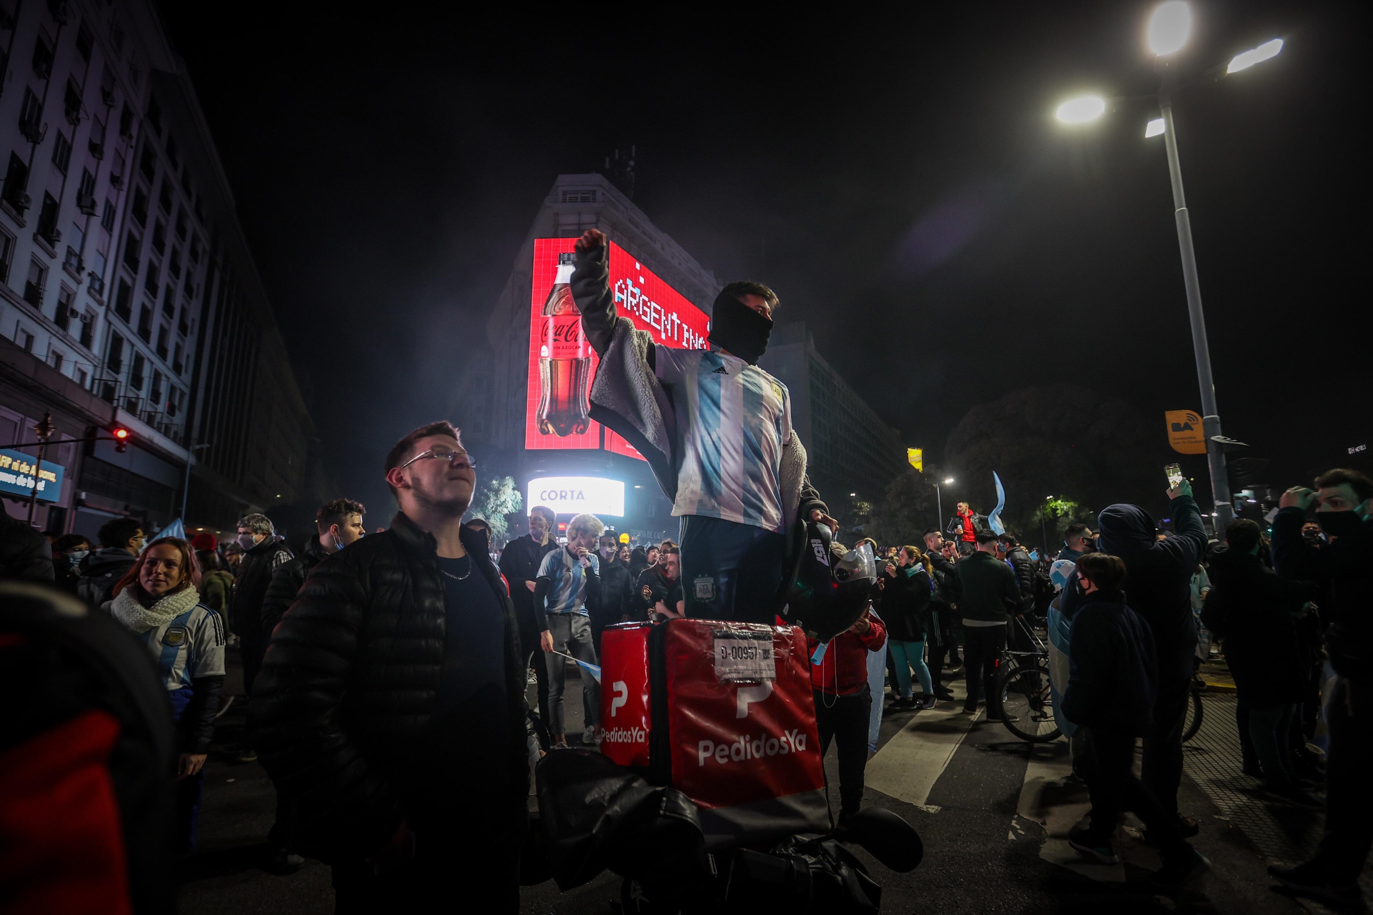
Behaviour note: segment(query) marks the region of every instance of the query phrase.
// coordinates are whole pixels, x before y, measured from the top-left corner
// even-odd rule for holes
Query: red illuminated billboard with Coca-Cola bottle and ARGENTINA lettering
[[[529,387],[526,449],[600,449],[640,457],[625,439],[603,431],[589,414],[588,394],[597,357],[582,335],[581,316],[567,287],[577,239],[534,239],[529,307]],[[654,343],[673,348],[706,347],[710,318],[677,289],[610,243],[610,285],[615,310]]]

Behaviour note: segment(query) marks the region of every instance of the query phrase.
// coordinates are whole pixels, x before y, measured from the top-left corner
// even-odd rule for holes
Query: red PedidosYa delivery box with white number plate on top
[[[796,627],[680,619],[601,634],[601,753],[700,811],[706,848],[829,830]]]

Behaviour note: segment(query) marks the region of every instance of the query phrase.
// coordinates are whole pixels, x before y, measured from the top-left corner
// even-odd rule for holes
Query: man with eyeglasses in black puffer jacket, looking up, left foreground
[[[515,608],[463,527],[474,462],[449,423],[386,458],[389,531],[310,571],[253,700],[258,752],[334,870],[338,911],[452,908],[481,886],[519,911],[527,823],[524,658]]]

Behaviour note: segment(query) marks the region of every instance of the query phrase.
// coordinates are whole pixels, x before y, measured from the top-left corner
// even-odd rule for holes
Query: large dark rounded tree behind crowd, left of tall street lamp
[[[1157,425],[1123,401],[1079,387],[1012,391],[969,410],[949,433],[954,498],[986,514],[997,503],[995,471],[1006,488],[1002,521],[1026,540],[1039,539],[1046,497],[1076,503],[1074,520],[1112,502],[1156,512],[1164,508],[1162,468],[1170,460]]]

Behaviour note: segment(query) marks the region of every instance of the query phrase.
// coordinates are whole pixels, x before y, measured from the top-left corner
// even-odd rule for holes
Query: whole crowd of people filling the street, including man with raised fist
[[[430,907],[450,899],[457,871],[481,875],[487,908],[516,911],[530,680],[557,753],[573,746],[564,691],[577,671],[579,745],[593,749],[607,627],[680,617],[776,624],[788,612],[787,569],[822,542],[811,531],[838,534],[839,524],[806,473],[785,385],[757,365],[777,296],[729,284],[714,305],[710,347],[669,350],[616,316],[607,255],[604,236],[586,232],[571,278],[600,357],[590,399],[645,457],[681,519],[681,543],[634,545],[593,514],[571,517],[557,536],[556,514],[533,506],[529,534],[497,551],[486,520],[464,521],[476,475],[446,421],[386,454],[398,512],[367,536],[364,508],[349,499],[321,506],[310,538],[295,545],[264,514],[240,519],[228,543],[147,542],[139,521],[114,519],[99,549],[76,535],[49,543],[3,519],[0,579],[44,583],[55,597],[65,590],[67,606],[114,620],[146,653],[148,676],[170,700],[159,713],[176,734],[168,789],[183,852],[195,844],[216,720],[236,701],[224,690],[232,642],[247,701],[233,754],[259,761],[276,787],[273,870],[299,867],[302,856],[327,861],[339,912]],[[722,462],[722,449],[739,460]],[[1096,531],[1070,527],[1056,556],[993,531],[994,519],[965,502],[921,545],[833,543],[840,561],[869,549],[881,557],[849,628],[807,638],[821,750],[838,750],[840,824],[862,805],[880,715],[958,701],[945,674],[961,667],[956,713],[1005,720],[997,665],[1052,609],[1065,623],[1071,671],[1060,712],[1075,726],[1074,770],[1092,797],[1090,822],[1071,844],[1114,861],[1120,816],[1134,811],[1163,859],[1153,879],[1184,882],[1199,866],[1188,842],[1199,824],[1179,813],[1178,787],[1190,682],[1208,654],[1199,652],[1200,615],[1234,669],[1245,771],[1262,776],[1274,803],[1302,805],[1317,804],[1311,779],[1324,775],[1321,851],[1271,868],[1274,877],[1321,899],[1358,900],[1373,842],[1370,789],[1358,771],[1370,739],[1362,713],[1373,483],[1330,471],[1315,490],[1282,497],[1270,535],[1238,521],[1221,532],[1225,543],[1210,542],[1185,482],[1168,498],[1171,531],[1140,506],[1111,505]],[[0,652],[29,650],[0,639]],[[1328,737],[1324,772],[1304,749],[1318,727]]]

